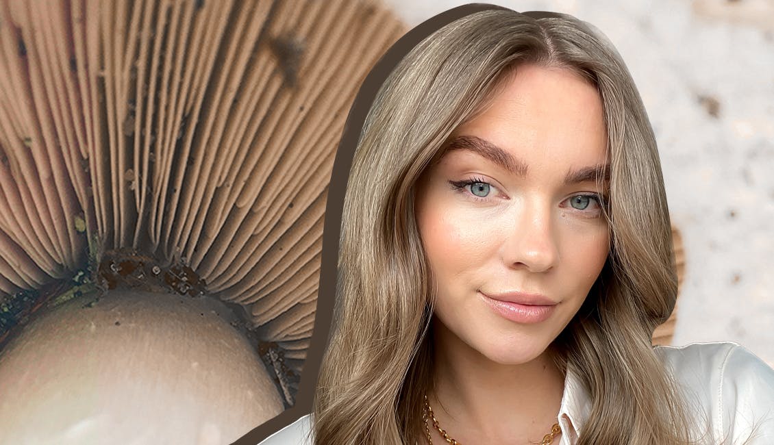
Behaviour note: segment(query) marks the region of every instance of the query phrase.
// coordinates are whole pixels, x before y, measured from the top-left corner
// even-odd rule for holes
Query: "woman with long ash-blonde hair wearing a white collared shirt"
[[[456,20],[372,105],[313,426],[265,443],[772,443],[759,358],[652,347],[671,246],[656,142],[610,43],[568,15]]]

